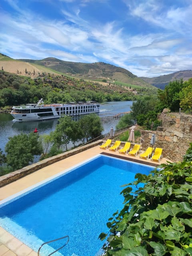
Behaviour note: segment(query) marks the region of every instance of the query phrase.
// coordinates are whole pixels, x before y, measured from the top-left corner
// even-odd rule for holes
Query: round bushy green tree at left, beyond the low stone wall
[[[27,166],[33,161],[34,155],[41,153],[38,134],[19,134],[9,138],[5,146],[6,162],[13,170]]]

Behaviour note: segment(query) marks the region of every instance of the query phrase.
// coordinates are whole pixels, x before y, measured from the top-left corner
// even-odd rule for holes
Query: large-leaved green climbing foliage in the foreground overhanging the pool
[[[124,207],[100,234],[104,255],[192,255],[192,164],[159,168],[124,185]]]

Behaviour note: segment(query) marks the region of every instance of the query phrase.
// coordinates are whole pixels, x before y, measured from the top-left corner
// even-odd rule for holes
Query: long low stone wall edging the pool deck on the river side
[[[16,170],[14,172],[10,172],[8,174],[5,174],[4,176],[0,176],[0,187],[5,186],[13,181],[16,181],[32,172],[35,172],[45,166],[48,166],[50,164],[54,164],[55,162],[58,162],[62,159],[65,159],[69,156],[73,156],[75,154],[78,154],[84,150],[87,150],[89,148],[92,148],[94,146],[99,145],[102,142],[102,140],[98,140],[96,142],[92,142],[90,144],[87,144],[85,146],[80,146],[78,148],[72,149],[70,151],[64,152],[62,154],[59,154],[57,156],[52,156],[50,158],[44,159],[40,162],[37,162],[35,164],[28,165],[22,169]]]

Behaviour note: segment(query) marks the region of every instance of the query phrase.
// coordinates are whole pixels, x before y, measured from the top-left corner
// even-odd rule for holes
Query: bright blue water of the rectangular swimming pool
[[[97,156],[0,205],[0,225],[33,250],[65,235],[64,256],[95,256],[108,233],[106,223],[122,209],[123,184],[153,168],[108,156]],[[62,241],[64,243],[65,241]],[[50,244],[57,249],[61,241]],[[52,249],[52,248],[51,248]],[[50,250],[45,246],[44,250]],[[50,252],[50,251],[49,251]]]

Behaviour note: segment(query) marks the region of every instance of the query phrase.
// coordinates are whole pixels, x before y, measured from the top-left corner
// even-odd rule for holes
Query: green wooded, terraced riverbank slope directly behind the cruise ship
[[[103,86],[98,82],[46,73],[32,80],[0,70],[0,107],[34,103],[40,98],[48,104],[136,99],[132,92],[122,87]]]

